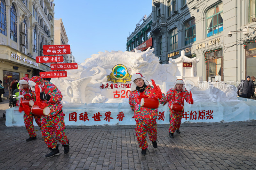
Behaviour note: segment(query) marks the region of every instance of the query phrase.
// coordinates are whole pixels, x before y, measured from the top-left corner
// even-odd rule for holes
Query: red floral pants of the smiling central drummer
[[[147,132],[150,141],[156,141],[157,138],[157,124],[156,119],[136,120],[136,136],[141,149],[148,148],[146,140]]]

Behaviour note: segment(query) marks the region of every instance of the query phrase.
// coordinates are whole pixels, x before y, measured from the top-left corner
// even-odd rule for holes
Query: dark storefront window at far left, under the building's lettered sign
[[[8,97],[9,90],[8,86],[12,83],[14,79],[20,80],[20,73],[5,71],[3,70],[3,86],[4,86],[4,97]]]

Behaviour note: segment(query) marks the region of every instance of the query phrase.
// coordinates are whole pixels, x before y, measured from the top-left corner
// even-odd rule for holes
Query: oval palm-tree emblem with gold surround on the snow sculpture
[[[132,75],[128,73],[127,68],[122,64],[117,64],[112,68],[112,72],[107,76],[109,82],[127,82],[132,81]]]

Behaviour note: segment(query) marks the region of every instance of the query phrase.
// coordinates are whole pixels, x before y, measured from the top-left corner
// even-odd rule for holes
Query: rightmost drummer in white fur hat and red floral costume
[[[178,134],[180,134],[180,123],[183,117],[184,99],[189,104],[194,103],[194,100],[192,99],[192,93],[191,92],[189,93],[185,89],[185,84],[183,80],[177,79],[173,88],[166,93],[166,101],[164,102],[164,104],[168,102],[168,106],[170,110],[171,119],[170,119],[169,136],[171,138],[174,138],[173,134],[175,130]],[[173,104],[177,104],[176,106],[178,106],[180,109],[173,107]]]

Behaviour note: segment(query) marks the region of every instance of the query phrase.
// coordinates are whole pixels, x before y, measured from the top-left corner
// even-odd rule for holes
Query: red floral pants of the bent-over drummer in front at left
[[[44,142],[47,144],[48,148],[56,148],[56,139],[64,145],[68,144],[68,137],[65,135],[65,122],[63,112],[53,116],[47,117],[42,116],[42,137]],[[56,136],[56,139],[54,137]]]

